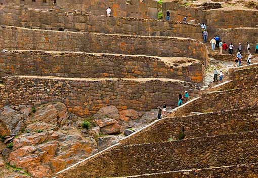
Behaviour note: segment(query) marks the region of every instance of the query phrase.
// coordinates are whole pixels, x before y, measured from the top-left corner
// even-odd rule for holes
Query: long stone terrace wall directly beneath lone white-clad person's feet
[[[10,15],[11,13],[11,15]],[[66,14],[6,6],[0,11],[0,24],[19,27],[72,31],[120,33],[131,35],[171,36],[202,40],[199,26],[153,19],[106,17],[92,14]],[[48,20],[46,20],[48,19]]]

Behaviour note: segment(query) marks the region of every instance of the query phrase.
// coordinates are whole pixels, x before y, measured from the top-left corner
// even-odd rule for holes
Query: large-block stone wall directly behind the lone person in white
[[[157,19],[157,1],[133,0],[127,3],[125,0],[57,0],[57,6],[63,7],[66,11],[73,12],[79,9],[91,12],[95,15],[106,15],[106,9],[111,7],[111,15],[115,17],[138,17]]]

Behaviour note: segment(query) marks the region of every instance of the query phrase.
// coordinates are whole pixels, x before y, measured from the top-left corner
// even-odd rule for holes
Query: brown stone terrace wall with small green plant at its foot
[[[120,140],[120,144],[146,144],[177,140],[184,126],[186,138],[212,136],[256,130],[257,107],[227,112],[214,112],[187,117],[165,118]]]

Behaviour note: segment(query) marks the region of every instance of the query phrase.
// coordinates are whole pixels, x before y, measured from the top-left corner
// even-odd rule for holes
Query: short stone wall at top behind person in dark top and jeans
[[[165,2],[162,4],[163,18],[165,19],[166,11],[170,12],[170,20],[183,21],[186,16],[187,20],[196,20],[197,23],[206,23],[205,12],[196,8],[180,6],[178,3]],[[201,32],[201,29],[199,28]]]

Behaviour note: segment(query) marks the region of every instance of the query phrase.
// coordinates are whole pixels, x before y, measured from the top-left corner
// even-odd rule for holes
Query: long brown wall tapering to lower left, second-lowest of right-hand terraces
[[[126,146],[81,162],[57,177],[114,177],[255,163],[257,136],[253,131]]]

